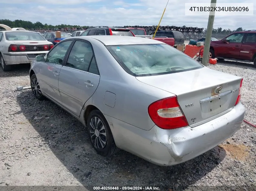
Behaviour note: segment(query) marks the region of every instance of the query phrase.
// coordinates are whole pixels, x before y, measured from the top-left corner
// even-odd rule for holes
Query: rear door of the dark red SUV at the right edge
[[[239,58],[252,61],[252,58],[255,53],[256,53],[256,32],[248,33],[242,42]]]

